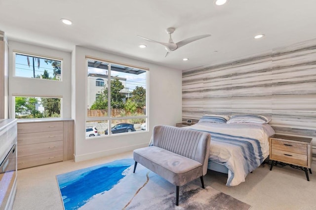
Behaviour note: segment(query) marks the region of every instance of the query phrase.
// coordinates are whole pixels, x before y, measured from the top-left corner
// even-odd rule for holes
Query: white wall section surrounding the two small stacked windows
[[[62,81],[13,77],[13,52],[19,51],[38,56],[63,59]],[[57,84],[57,85],[56,85]],[[13,96],[50,96],[63,97],[62,117],[71,117],[71,53],[37,45],[9,41],[9,112],[13,118]]]

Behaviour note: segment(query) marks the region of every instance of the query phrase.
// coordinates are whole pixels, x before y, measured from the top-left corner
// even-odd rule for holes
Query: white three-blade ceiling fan
[[[186,38],[182,41],[179,41],[177,43],[174,43],[172,38],[171,38],[171,35],[173,34],[173,32],[175,31],[175,28],[167,28],[166,29],[166,32],[168,33],[169,35],[169,42],[168,43],[165,43],[165,42],[160,42],[160,41],[155,41],[155,40],[152,40],[152,39],[149,39],[149,38],[145,38],[143,36],[140,36],[140,35],[137,35],[138,37],[141,37],[147,41],[151,41],[151,42],[155,42],[155,43],[159,43],[159,44],[162,44],[165,49],[167,50],[167,54],[164,56],[166,57],[168,55],[169,52],[171,51],[175,51],[176,49],[179,49],[180,47],[186,45],[186,44],[189,44],[193,41],[196,41],[198,39],[201,39],[201,38],[205,38],[207,36],[210,36],[210,35],[197,35],[197,36],[192,36],[190,38]]]

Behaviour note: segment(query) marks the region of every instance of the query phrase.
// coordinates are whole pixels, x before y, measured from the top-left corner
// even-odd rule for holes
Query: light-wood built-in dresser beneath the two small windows
[[[17,129],[18,169],[73,159],[74,120],[22,121]]]

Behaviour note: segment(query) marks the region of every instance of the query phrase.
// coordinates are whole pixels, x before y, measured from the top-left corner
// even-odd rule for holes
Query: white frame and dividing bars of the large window
[[[119,63],[119,62],[115,62],[115,61],[110,61],[110,60],[104,60],[104,59],[100,59],[100,58],[94,58],[94,57],[90,57],[90,56],[86,56],[85,58],[85,68],[86,68],[86,75],[88,75],[88,60],[94,60],[94,61],[99,61],[99,62],[104,62],[108,64],[108,70],[107,70],[107,75],[108,75],[108,79],[107,82],[104,81],[105,85],[104,87],[107,86],[108,88],[108,116],[101,116],[101,117],[88,117],[87,114],[87,108],[85,109],[85,121],[86,122],[91,122],[91,121],[108,121],[108,135],[101,135],[101,136],[96,136],[96,137],[92,137],[92,138],[100,138],[100,137],[111,137],[113,135],[117,136],[117,135],[129,135],[129,134],[134,134],[134,133],[139,133],[139,132],[148,132],[148,125],[149,125],[149,68],[144,68],[144,67],[138,67],[138,66],[133,66],[133,65],[128,65],[128,64],[123,64],[123,63]],[[111,77],[111,65],[120,65],[120,66],[124,66],[127,68],[133,68],[133,69],[139,69],[139,70],[144,70],[146,71],[146,114],[143,116],[118,116],[118,117],[113,117],[111,116],[111,80],[113,79]],[[87,77],[86,77],[86,81],[87,81]],[[87,84],[87,82],[86,82]],[[126,87],[124,87],[126,88]],[[89,87],[86,86],[86,107],[88,105],[88,90]],[[145,119],[145,123],[147,125],[147,129],[146,130],[139,130],[138,132],[130,132],[130,133],[119,133],[119,134],[112,134],[111,128],[112,128],[112,121],[115,120],[131,120],[131,119]],[[90,137],[91,138],[91,137]],[[89,138],[89,139],[90,139]],[[86,138],[87,139],[87,138]]]

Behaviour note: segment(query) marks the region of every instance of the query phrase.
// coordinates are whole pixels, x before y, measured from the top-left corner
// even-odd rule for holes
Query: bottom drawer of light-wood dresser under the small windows
[[[17,165],[18,169],[24,169],[59,161],[63,161],[63,151],[19,157]]]

